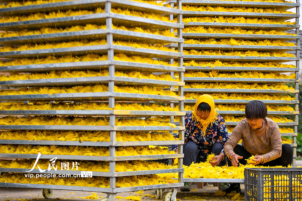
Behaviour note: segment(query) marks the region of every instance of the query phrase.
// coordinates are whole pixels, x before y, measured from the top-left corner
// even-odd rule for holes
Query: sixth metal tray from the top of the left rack
[[[76,85],[94,85],[108,84],[114,81],[114,85],[135,85],[135,86],[185,86],[184,82],[144,79],[136,77],[118,77],[118,76],[98,76],[98,77],[67,77],[50,78],[38,80],[10,80],[0,81],[0,86],[76,86]]]

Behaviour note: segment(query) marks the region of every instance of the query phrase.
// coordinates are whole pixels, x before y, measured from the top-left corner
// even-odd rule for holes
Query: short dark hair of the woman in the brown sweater
[[[252,100],[246,104],[245,113],[247,119],[265,119],[267,108],[264,102]]]

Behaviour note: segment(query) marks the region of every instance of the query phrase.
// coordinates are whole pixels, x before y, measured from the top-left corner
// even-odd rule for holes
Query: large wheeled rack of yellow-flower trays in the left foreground
[[[2,1],[0,158],[23,159],[0,160],[0,186],[42,188],[46,198],[52,189],[107,193],[103,200],[166,188],[163,199],[175,200],[182,162],[172,168],[146,160],[183,157],[184,55],[158,45],[183,43],[170,32],[181,33],[183,25],[169,20],[182,18],[181,2],[175,8],[153,1],[53,2]],[[176,58],[178,65],[155,57]],[[179,96],[162,89],[170,86],[179,87]],[[182,107],[170,108],[171,101]],[[159,115],[179,116],[181,126],[150,118]],[[166,148],[172,144],[181,147],[178,154]],[[92,178],[28,179],[28,171],[71,177],[92,171]],[[156,175],[169,172],[179,173],[178,182]]]

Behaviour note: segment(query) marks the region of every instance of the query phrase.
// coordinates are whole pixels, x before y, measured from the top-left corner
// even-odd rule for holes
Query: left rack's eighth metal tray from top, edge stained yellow
[[[184,116],[185,111],[144,110],[0,110],[0,115],[116,115],[116,116]]]

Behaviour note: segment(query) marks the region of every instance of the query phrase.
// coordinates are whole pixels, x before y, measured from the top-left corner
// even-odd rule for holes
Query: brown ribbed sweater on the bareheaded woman
[[[245,119],[234,128],[232,135],[224,144],[224,151],[228,157],[234,153],[234,147],[242,139],[243,147],[252,155],[262,155],[262,163],[277,159],[282,153],[281,136],[278,125],[270,118],[263,121],[268,127],[261,138],[257,138],[252,127]]]

